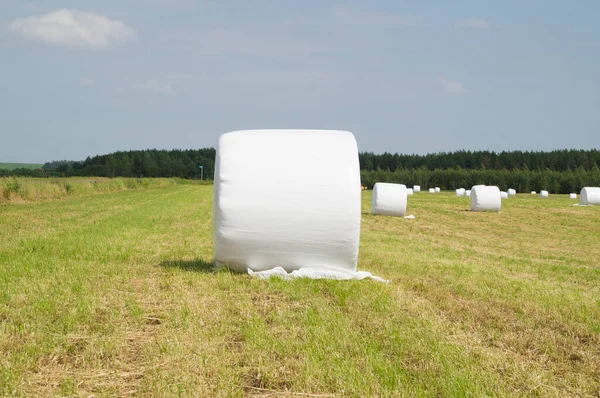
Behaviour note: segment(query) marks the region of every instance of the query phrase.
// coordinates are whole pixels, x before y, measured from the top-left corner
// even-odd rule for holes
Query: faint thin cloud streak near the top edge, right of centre
[[[345,5],[338,5],[333,9],[335,19],[343,24],[363,25],[373,27],[400,27],[416,26],[421,24],[422,18],[412,14],[395,14],[378,11],[360,11]]]

